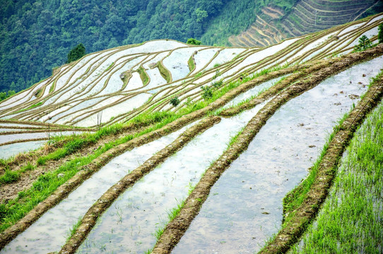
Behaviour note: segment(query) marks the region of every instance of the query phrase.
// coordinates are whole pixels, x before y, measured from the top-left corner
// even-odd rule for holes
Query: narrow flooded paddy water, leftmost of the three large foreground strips
[[[37,222],[18,235],[0,253],[48,253],[60,250],[71,226],[77,222],[79,217],[83,217],[90,206],[110,186],[117,183],[129,171],[139,167],[155,152],[172,143],[185,129],[182,128],[112,159],[69,194],[68,198],[43,214]]]

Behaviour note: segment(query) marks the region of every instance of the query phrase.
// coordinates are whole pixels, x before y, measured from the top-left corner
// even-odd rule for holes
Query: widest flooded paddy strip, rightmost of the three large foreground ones
[[[368,84],[382,68],[382,59],[329,78],[276,111],[213,186],[172,253],[259,250],[281,226],[283,197],[306,176],[337,119],[356,104],[348,95],[367,90],[358,82]]]

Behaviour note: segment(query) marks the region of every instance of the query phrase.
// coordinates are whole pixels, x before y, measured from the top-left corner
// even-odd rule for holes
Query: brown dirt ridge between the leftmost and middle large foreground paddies
[[[197,123],[195,126],[187,129],[187,131],[184,131],[184,133],[179,135],[179,137],[170,145],[167,145],[163,150],[160,150],[160,152],[146,160],[140,167],[134,169],[134,171],[131,171],[131,173],[115,183],[114,186],[110,187],[109,190],[107,190],[107,192],[105,192],[92,207],[90,207],[88,212],[86,212],[83,219],[81,219],[81,224],[78,226],[75,234],[73,234],[69,241],[67,241],[61,248],[59,253],[75,253],[77,248],[86,239],[86,236],[88,236],[90,230],[95,226],[98,217],[112,205],[114,200],[116,200],[120,194],[126,191],[130,186],[133,186],[136,181],[139,181],[139,179],[155,169],[159,164],[164,162],[170,155],[181,150],[182,147],[193,140],[196,135],[206,131],[206,129],[219,122],[220,117],[218,116],[211,116],[201,120],[200,123]]]

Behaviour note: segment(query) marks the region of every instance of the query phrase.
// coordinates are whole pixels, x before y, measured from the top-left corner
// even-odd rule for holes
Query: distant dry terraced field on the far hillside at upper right
[[[305,35],[357,20],[379,1],[301,0],[290,13],[266,6],[257,20],[229,42],[237,47],[267,47],[290,37]]]

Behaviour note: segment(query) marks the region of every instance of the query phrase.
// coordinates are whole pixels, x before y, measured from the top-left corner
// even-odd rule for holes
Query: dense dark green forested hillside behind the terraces
[[[47,78],[79,43],[86,53],[165,38],[227,45],[230,35],[249,28],[267,6],[288,13],[296,2],[0,0],[0,92],[18,92]]]

